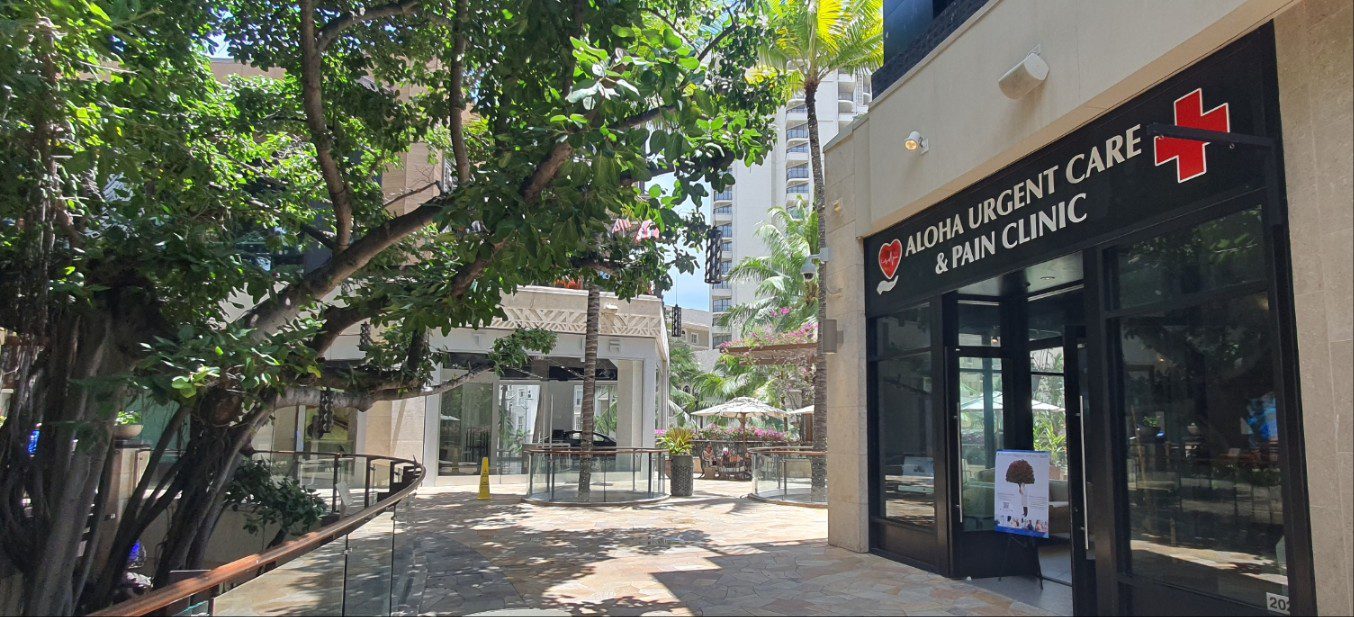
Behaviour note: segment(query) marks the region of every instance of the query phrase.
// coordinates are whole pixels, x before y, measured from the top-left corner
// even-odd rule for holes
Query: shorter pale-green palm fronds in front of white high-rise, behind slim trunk
[[[766,254],[746,257],[728,271],[730,280],[757,283],[756,298],[724,314],[724,325],[743,336],[754,329],[793,332],[818,321],[818,280],[803,276],[808,256],[818,252],[818,212],[803,200],[770,208],[770,221],[757,229]]]

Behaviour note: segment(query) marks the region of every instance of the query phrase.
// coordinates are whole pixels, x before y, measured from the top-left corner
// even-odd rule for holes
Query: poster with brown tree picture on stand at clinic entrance
[[[1048,537],[1048,452],[997,451],[997,530]]]

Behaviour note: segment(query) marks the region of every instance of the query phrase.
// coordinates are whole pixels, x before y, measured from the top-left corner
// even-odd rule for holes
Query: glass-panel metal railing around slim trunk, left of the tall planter
[[[528,503],[604,506],[647,503],[668,498],[668,453],[655,448],[585,451],[558,444],[531,444],[527,455]],[[586,471],[589,479],[582,482]]]

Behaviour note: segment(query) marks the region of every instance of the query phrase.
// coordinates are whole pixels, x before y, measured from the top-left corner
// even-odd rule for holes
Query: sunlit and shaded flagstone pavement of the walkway
[[[482,502],[474,488],[420,488],[421,613],[1047,614],[829,547],[826,510],[745,499],[745,482],[605,509],[533,506],[512,487]]]

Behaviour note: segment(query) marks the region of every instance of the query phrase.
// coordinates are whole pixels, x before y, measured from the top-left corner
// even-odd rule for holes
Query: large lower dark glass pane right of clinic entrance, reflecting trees
[[[1265,294],[1120,319],[1136,576],[1257,606],[1286,589],[1270,319]]]

